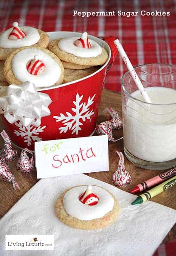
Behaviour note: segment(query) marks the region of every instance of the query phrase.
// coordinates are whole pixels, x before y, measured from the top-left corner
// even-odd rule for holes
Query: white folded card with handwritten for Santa
[[[107,136],[35,142],[37,178],[109,171]]]

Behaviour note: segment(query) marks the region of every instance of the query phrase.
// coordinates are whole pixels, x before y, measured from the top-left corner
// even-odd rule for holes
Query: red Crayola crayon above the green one
[[[136,187],[134,187],[133,189],[131,189],[131,193],[137,193],[137,192],[141,192],[143,190],[148,189],[149,187],[152,187],[158,183],[163,182],[166,179],[171,178],[172,176],[174,176],[176,174],[176,167],[171,169],[170,171],[167,171],[165,173],[161,173],[151,179],[148,179],[140,184],[138,184]]]

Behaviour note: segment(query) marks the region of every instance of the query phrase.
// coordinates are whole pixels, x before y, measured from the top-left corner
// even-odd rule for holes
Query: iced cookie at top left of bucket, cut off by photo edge
[[[20,47],[46,48],[48,44],[49,36],[44,31],[30,26],[19,27],[18,22],[13,22],[13,27],[0,35],[0,60],[6,60],[15,49]]]

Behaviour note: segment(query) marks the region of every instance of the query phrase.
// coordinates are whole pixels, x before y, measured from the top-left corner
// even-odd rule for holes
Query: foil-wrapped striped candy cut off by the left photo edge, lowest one
[[[19,189],[19,185],[15,181],[14,175],[11,173],[9,166],[2,156],[0,156],[0,180],[12,182],[14,189]]]

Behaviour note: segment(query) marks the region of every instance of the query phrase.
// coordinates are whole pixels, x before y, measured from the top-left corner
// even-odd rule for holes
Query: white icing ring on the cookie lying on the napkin
[[[102,187],[92,186],[92,192],[99,197],[94,206],[88,206],[79,201],[79,196],[87,189],[87,186],[73,187],[63,198],[65,211],[78,220],[94,220],[102,218],[114,207],[114,198]]]

